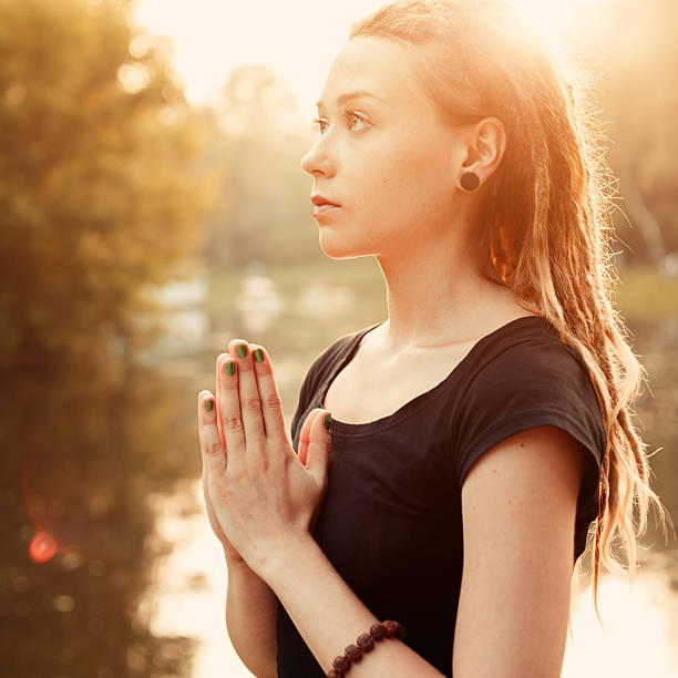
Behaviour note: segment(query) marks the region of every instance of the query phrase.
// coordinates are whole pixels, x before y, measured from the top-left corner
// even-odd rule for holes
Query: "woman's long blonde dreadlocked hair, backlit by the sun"
[[[602,624],[600,563],[624,572],[612,553],[614,531],[624,537],[633,578],[650,500],[665,535],[666,522],[649,486],[646,443],[630,420],[646,371],[610,301],[618,278],[606,188],[614,177],[597,143],[590,74],[556,55],[503,0],[400,0],[356,22],[349,39],[358,35],[408,48],[443,121],[491,115],[505,126],[502,163],[483,186],[474,256],[487,279],[508,286],[521,306],[553,322],[595,388],[607,430],[594,541],[594,606]]]

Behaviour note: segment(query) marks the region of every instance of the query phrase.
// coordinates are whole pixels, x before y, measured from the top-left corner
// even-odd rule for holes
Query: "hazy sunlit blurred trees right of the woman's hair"
[[[630,220],[616,213],[617,234],[631,248],[629,260],[660,267],[666,251],[678,250],[678,3],[616,0],[587,12],[577,33],[600,73],[609,161]]]

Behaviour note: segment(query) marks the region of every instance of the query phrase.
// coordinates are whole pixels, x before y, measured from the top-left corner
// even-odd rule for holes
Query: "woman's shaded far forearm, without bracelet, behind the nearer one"
[[[226,628],[236,653],[257,678],[277,670],[277,598],[268,584],[245,563],[226,559]]]

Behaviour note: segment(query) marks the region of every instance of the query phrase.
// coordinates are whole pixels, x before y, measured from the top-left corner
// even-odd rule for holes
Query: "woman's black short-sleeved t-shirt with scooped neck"
[[[311,364],[291,423],[297,452],[305,418],[322,407],[331,381],[379,325],[339,338]],[[443,381],[388,417],[332,420],[328,489],[312,536],[374,616],[401,622],[404,643],[446,676],[463,565],[465,475],[501,440],[542,425],[566,431],[588,452],[574,565],[598,513],[607,436],[586,368],[545,318],[518,318],[486,335]],[[325,676],[279,602],[277,638],[279,677]],[[337,654],[345,640],[337,640]]]

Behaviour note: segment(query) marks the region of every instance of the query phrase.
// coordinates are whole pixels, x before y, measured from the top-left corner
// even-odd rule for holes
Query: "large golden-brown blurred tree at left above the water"
[[[152,308],[143,284],[202,244],[205,131],[166,43],[129,13],[126,1],[0,0],[2,367],[133,351]]]

